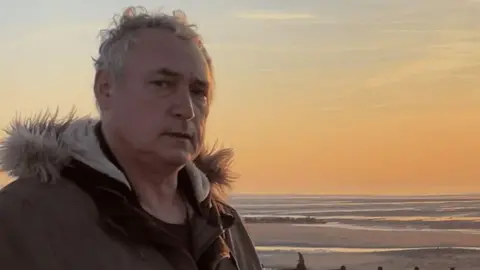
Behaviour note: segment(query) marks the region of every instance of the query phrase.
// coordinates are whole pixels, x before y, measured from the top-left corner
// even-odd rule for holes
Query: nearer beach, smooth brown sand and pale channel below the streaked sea
[[[375,231],[247,224],[265,267],[295,267],[297,252],[309,269],[480,270],[480,234],[455,231]],[[455,247],[452,249],[451,247]],[[465,249],[463,249],[464,247]],[[468,249],[472,248],[472,249]]]

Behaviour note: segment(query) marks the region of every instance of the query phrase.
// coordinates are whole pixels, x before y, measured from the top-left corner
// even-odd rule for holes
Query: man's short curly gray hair
[[[183,11],[176,10],[173,15],[163,12],[149,13],[143,7],[129,7],[122,15],[114,17],[109,29],[100,31],[101,44],[98,58],[94,59],[95,70],[108,70],[120,76],[123,70],[125,54],[135,43],[135,34],[146,28],[168,29],[179,38],[195,40],[212,69],[210,56],[203,47],[196,26],[188,24]]]

